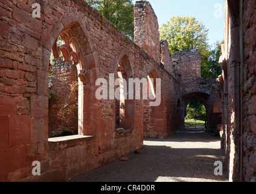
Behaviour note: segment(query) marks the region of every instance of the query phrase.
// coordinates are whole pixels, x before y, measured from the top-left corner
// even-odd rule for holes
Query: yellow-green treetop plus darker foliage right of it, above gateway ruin
[[[202,55],[202,78],[217,78],[221,75],[218,59],[221,55],[221,44],[217,42],[211,50],[207,41],[208,30],[201,21],[192,16],[173,16],[167,24],[160,27],[160,38],[169,42],[170,53],[186,49],[199,49]]]

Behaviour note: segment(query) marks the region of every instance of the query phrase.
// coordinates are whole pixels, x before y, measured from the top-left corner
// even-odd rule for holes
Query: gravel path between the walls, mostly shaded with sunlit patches
[[[220,138],[185,130],[164,139],[144,139],[140,153],[75,176],[69,182],[224,182],[215,176],[215,161],[223,161]]]

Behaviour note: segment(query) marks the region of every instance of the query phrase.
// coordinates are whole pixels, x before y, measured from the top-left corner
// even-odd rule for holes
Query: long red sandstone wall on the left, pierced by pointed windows
[[[115,102],[95,98],[96,79],[108,79],[124,55],[134,78],[146,78],[147,70],[157,70],[163,100],[168,102],[161,133],[175,131],[173,91],[178,84],[164,67],[84,1],[40,1],[41,18],[32,17],[33,3],[0,1],[1,181],[63,181],[143,147],[143,101],[135,101],[134,129],[115,132]],[[84,61],[80,68],[87,70],[83,74],[87,84],[80,86],[79,134],[92,137],[57,144],[48,140],[49,59],[53,42],[66,28],[78,39]],[[32,175],[33,161],[41,162],[41,176]]]

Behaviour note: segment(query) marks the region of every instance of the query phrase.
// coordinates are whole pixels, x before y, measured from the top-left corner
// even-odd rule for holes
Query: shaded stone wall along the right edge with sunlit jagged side
[[[255,181],[256,4],[226,1],[222,75],[224,168],[230,181]]]

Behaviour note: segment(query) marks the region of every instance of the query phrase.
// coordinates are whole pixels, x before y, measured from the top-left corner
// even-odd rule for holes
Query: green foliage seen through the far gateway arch
[[[206,107],[204,106],[203,102],[200,101],[200,99],[194,98],[187,105],[186,113],[187,119],[196,118],[204,121],[206,118]]]

